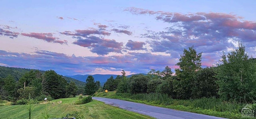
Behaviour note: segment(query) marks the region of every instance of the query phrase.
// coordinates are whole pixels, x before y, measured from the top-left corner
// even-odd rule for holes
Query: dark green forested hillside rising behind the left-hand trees
[[[3,67],[0,66],[0,77],[5,78],[7,75],[12,75],[14,78],[18,81],[22,75],[24,75],[26,72],[30,70],[36,70],[36,69],[25,69],[25,68],[14,68],[14,67]],[[39,70],[40,72],[44,73],[45,71]],[[74,81],[77,85],[77,87],[84,87],[85,83],[84,81],[79,81],[77,79],[62,76],[66,81],[69,83],[70,81]]]

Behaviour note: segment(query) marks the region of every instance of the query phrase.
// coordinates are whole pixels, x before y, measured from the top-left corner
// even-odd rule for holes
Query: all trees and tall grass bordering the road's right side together
[[[147,75],[110,77],[94,96],[123,99],[183,111],[226,118],[242,118],[247,104],[256,112],[256,60],[237,49],[223,52],[215,67],[202,67],[202,52],[194,47],[184,49],[175,69],[151,69]]]

